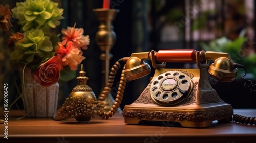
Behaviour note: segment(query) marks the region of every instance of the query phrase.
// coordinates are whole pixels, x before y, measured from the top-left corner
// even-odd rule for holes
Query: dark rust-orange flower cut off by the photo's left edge
[[[4,31],[9,30],[9,26],[12,26],[11,17],[12,13],[9,9],[9,5],[0,5],[0,28],[4,29]]]

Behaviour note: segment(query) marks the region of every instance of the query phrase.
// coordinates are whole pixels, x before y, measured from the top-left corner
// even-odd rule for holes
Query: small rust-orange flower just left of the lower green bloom
[[[15,34],[12,33],[12,36],[10,36],[8,38],[8,40],[5,42],[5,44],[8,45],[8,47],[10,47],[10,49],[12,50],[15,43],[22,42],[24,40],[25,40],[24,34],[19,33],[19,32],[15,33]]]

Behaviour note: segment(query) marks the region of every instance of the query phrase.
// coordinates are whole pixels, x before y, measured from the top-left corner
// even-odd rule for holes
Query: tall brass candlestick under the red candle
[[[102,60],[102,88],[108,83],[110,65],[109,61],[112,58],[112,54],[110,53],[111,48],[116,42],[116,33],[113,31],[114,27],[112,25],[113,20],[116,17],[116,14],[119,12],[118,9],[93,9],[96,17],[99,20],[99,27],[96,33],[96,43],[100,47],[101,55],[100,59]],[[106,97],[105,101],[105,111],[111,109],[114,104],[114,98],[111,94]]]

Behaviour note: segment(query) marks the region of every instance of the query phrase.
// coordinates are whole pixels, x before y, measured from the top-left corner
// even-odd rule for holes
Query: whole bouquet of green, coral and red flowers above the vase
[[[83,28],[75,28],[76,24],[62,29],[62,38],[52,33],[64,18],[63,11],[52,0],[17,2],[12,9],[8,4],[0,5],[0,29],[9,35],[5,44],[10,50],[10,64],[13,69],[29,66],[43,86],[75,78],[77,66],[85,59],[82,50],[90,43],[89,36],[83,35]],[[15,21],[20,25],[18,32],[12,29]]]

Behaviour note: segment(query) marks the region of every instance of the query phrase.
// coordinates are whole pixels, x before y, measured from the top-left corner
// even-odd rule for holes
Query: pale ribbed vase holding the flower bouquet
[[[42,86],[34,79],[30,67],[24,69],[24,75],[23,68],[20,68],[19,73],[22,77],[22,100],[27,117],[53,117],[57,112],[58,82],[48,87]]]

